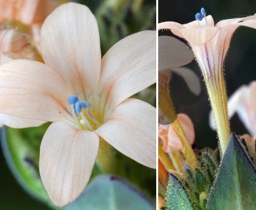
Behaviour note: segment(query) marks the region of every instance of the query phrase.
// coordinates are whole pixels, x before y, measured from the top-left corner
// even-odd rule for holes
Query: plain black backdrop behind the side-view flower
[[[211,1],[189,1],[189,0],[159,0],[158,17],[159,22],[174,21],[186,24],[194,19],[194,15],[204,7],[208,14],[213,16],[215,24],[223,19],[240,18],[253,15],[256,12],[255,0],[211,0]],[[170,31],[159,31],[159,35],[172,35]],[[240,27],[234,33],[230,43],[230,49],[224,64],[227,95],[230,96],[238,87],[249,84],[256,80],[256,30]],[[203,78],[198,64],[193,61],[188,65],[200,77],[202,82],[202,93],[194,96],[186,83],[178,75],[173,74],[171,80],[171,96],[175,103],[177,113],[185,113],[190,116],[194,123],[196,132],[196,147],[203,148],[217,146],[217,134],[209,127],[210,106],[207,93],[203,84]],[[256,104],[255,104],[256,106]],[[242,135],[247,133],[244,125],[237,115],[232,117],[231,130]]]

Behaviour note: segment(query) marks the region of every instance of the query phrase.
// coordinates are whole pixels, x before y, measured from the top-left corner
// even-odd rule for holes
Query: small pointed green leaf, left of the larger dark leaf
[[[174,175],[170,175],[166,201],[168,210],[193,210],[185,190]]]

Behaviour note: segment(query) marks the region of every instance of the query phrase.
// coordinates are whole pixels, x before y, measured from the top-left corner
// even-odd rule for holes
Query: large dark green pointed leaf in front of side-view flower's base
[[[207,210],[256,209],[255,198],[255,166],[232,133],[209,196]]]

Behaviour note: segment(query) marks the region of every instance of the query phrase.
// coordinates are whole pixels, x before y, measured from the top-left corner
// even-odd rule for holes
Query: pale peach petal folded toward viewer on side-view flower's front
[[[198,27],[182,29],[181,33],[190,45],[203,45],[212,39],[219,30],[220,28],[215,27]]]

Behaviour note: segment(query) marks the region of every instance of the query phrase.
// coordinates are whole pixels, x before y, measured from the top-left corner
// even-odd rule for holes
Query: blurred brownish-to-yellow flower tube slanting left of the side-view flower
[[[169,94],[169,87],[168,85],[161,85],[159,87],[159,95],[158,95],[158,105],[165,115],[167,119],[171,122],[171,126],[176,131],[178,137],[182,142],[182,154],[184,155],[186,162],[194,171],[196,168],[200,168],[198,160],[196,159],[196,155],[190,146],[188,139],[177,119],[177,115],[175,112],[175,108],[173,106],[173,101],[171,100],[171,95]]]

